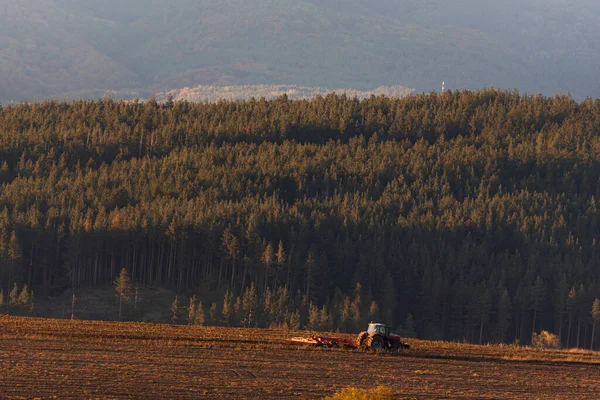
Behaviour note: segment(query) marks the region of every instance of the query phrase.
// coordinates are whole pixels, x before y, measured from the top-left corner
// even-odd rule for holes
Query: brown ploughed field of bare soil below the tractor
[[[0,317],[0,398],[597,399],[597,353],[413,341],[400,356],[294,347],[277,330]],[[518,361],[519,359],[529,359]]]

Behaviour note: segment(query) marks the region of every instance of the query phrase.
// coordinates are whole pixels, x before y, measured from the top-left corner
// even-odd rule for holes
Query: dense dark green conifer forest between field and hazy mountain
[[[125,268],[226,291],[210,314],[245,325],[279,302],[295,326],[589,347],[599,177],[600,101],[569,96],[5,105],[0,301]]]

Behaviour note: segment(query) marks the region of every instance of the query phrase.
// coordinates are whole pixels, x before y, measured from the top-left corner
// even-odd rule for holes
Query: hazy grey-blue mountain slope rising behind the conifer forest
[[[589,0],[0,0],[0,101],[198,85],[597,97]]]

